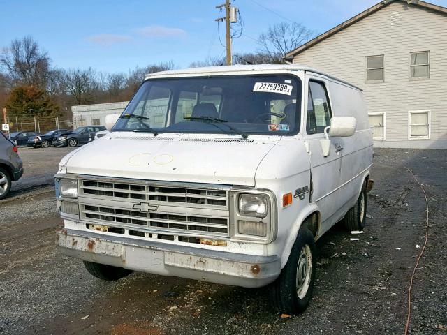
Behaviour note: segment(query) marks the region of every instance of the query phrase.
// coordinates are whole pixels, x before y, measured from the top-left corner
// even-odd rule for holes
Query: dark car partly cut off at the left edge
[[[0,199],[8,195],[11,182],[22,177],[23,163],[15,143],[0,132]]]

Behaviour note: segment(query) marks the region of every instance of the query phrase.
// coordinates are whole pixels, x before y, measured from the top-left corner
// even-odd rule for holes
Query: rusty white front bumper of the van
[[[57,245],[65,255],[89,262],[246,288],[268,285],[281,272],[278,256],[228,253],[65,228],[57,231]]]

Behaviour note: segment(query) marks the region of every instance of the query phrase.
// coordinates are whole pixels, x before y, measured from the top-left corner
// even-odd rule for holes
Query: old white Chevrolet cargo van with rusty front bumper
[[[342,219],[365,225],[371,166],[362,91],[335,77],[298,65],[154,73],[110,133],[61,160],[57,243],[106,281],[135,270],[270,284],[277,310],[298,313],[315,241]]]

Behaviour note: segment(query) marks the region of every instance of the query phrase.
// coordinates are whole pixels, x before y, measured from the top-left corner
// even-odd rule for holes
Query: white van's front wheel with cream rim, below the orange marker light
[[[305,311],[312,298],[316,269],[314,235],[300,228],[286,266],[270,287],[270,304],[279,313],[295,315]]]

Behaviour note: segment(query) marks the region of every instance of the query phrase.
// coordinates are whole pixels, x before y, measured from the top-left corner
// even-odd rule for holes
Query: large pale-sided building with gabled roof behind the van
[[[381,1],[285,58],[361,87],[375,147],[447,149],[447,8]]]

